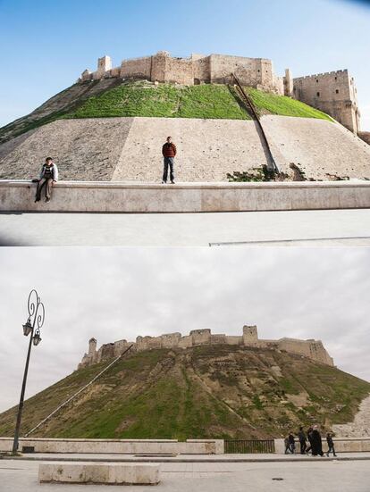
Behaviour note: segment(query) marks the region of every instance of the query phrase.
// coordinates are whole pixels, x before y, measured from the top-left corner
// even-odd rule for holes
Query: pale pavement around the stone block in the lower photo
[[[249,457],[252,461],[248,463],[231,463],[227,460],[227,456],[223,457],[223,461],[218,460],[219,456],[203,456],[200,457],[200,461],[198,461],[198,457],[193,456],[190,458],[192,461],[187,463],[179,463],[177,459],[174,459],[172,463],[161,463],[162,481],[154,487],[158,492],[162,490],[171,490],[172,492],[224,492],[226,490],[233,492],[248,492],[248,490],[253,492],[296,492],[298,489],[301,492],[312,492],[313,490],[369,492],[370,466],[368,460],[370,454],[350,455],[367,457],[367,459],[338,461],[308,456],[305,461],[296,461],[296,463],[294,463],[294,458],[299,458],[299,456],[289,456],[288,458],[278,456],[279,461],[274,463],[253,461],[251,455]],[[63,456],[68,459],[65,454]],[[114,459],[113,455],[110,456]],[[258,459],[263,455],[254,456]],[[268,455],[264,456],[268,458]],[[349,454],[346,456],[348,457]],[[42,459],[42,456],[39,457]],[[86,456],[81,457],[84,457],[85,460],[88,459]],[[97,456],[95,457],[97,458]],[[276,455],[270,455],[270,458],[272,457],[276,457]],[[341,457],[345,457],[344,454],[341,454]],[[109,455],[105,455],[105,460],[106,458],[109,459]],[[205,458],[209,459],[208,462],[204,461]],[[104,486],[101,485],[40,485],[38,483],[39,463],[35,460],[0,460],[1,492],[105,490]],[[125,486],[124,490],[142,492],[147,491],[147,487]]]

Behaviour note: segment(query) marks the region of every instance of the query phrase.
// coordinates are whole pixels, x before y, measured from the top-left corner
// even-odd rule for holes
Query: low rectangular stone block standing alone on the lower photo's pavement
[[[41,483],[156,485],[160,476],[157,464],[40,463],[38,480]]]

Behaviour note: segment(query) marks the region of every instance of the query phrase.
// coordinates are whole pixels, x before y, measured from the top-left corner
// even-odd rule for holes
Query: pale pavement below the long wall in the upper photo
[[[0,213],[0,246],[370,246],[370,209]]]

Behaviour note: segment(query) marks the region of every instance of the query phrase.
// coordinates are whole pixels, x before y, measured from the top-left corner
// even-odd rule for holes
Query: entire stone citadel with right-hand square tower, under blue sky
[[[289,69],[284,77],[273,71],[265,58],[229,54],[191,54],[174,58],[166,51],[152,56],[123,60],[112,68],[109,56],[97,60],[97,71],[82,72],[79,82],[104,78],[147,79],[152,82],[195,84],[231,84],[234,73],[244,86],[290,96],[329,114],[354,133],[359,131],[360,113],[357,89],[347,70],[330,71],[293,79]]]

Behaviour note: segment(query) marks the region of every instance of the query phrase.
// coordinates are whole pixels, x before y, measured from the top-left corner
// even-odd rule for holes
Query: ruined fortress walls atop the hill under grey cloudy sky
[[[327,353],[321,340],[299,340],[297,338],[280,338],[279,340],[261,340],[258,338],[256,325],[244,326],[243,334],[230,336],[213,334],[210,329],[193,329],[184,337],[181,333],[167,333],[159,337],[137,337],[136,342],[118,340],[104,344],[97,350],[96,338],[88,341],[88,354],[84,354],[79,369],[94,363],[118,357],[132,345],[131,350],[143,351],[156,348],[189,348],[202,345],[230,345],[286,350],[291,354],[308,357],[319,363],[334,365],[332,357]]]

